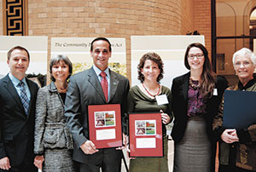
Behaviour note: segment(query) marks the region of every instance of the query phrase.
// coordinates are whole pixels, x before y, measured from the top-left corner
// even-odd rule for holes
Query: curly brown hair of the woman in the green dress
[[[137,73],[138,73],[138,79],[141,81],[141,83],[143,83],[145,77],[143,75],[143,73],[141,72],[142,68],[144,67],[145,61],[146,60],[153,60],[154,63],[156,63],[158,65],[158,68],[160,69],[160,74],[157,77],[157,82],[160,82],[160,80],[164,77],[163,73],[164,73],[164,63],[160,58],[159,54],[156,53],[147,53],[147,54],[143,54],[140,63],[137,66]]]

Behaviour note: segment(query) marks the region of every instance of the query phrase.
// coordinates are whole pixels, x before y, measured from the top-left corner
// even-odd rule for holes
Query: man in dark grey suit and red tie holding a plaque
[[[65,115],[75,147],[73,159],[79,162],[79,171],[118,172],[121,170],[122,151],[116,148],[96,149],[89,140],[88,112],[89,105],[121,104],[124,118],[127,94],[130,88],[126,77],[109,70],[108,60],[111,57],[111,44],[105,37],[97,37],[91,43],[90,55],[94,65],[84,72],[79,72],[70,78],[68,83]],[[104,76],[101,76],[105,72]],[[106,80],[108,89],[101,83]],[[123,123],[125,132],[125,123]]]

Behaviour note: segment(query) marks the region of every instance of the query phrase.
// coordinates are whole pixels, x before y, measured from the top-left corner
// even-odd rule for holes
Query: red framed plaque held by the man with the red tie
[[[88,106],[89,137],[96,148],[119,147],[123,144],[119,104]]]

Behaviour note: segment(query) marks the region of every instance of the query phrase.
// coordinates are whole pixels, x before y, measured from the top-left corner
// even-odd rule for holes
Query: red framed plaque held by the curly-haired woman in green
[[[129,114],[130,157],[163,157],[160,112]]]

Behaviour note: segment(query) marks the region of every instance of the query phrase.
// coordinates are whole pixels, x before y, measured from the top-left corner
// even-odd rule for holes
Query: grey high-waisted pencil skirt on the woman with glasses
[[[210,172],[211,158],[204,118],[189,118],[183,139],[174,143],[173,172]]]

